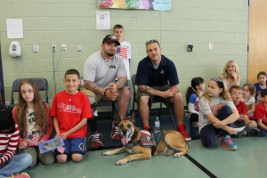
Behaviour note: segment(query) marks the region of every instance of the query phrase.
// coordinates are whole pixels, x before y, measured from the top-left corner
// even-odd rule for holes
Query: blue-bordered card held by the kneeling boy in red
[[[53,138],[51,140],[38,143],[40,153],[45,153],[50,150],[55,150],[63,145],[64,145],[64,142],[61,137]]]

